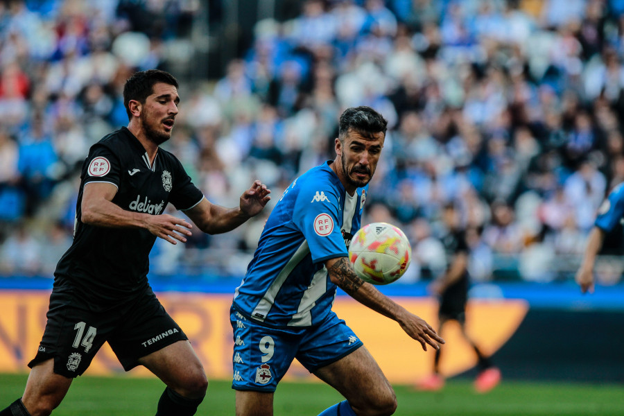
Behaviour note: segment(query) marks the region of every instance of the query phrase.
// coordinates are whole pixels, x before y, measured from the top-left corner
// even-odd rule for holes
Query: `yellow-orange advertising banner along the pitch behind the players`
[[[157,293],[168,313],[187,333],[209,379],[232,379],[232,327],[229,324],[231,295],[205,293]],[[408,311],[437,325],[437,302],[426,297],[393,297]],[[46,324],[48,291],[0,291],[0,372],[27,372],[26,364],[37,352]],[[379,315],[349,297],[337,297],[333,307],[354,329],[392,383],[414,383],[431,372],[433,348],[422,351],[399,324]],[[469,303],[467,331],[486,354],[493,354],[516,331],[528,311],[523,300]],[[474,351],[460,336],[458,327],[442,334],[441,368],[447,376],[469,370],[476,364]],[[85,374],[123,372],[108,345],[98,352]],[[130,374],[146,376],[144,368]],[[313,380],[301,365],[293,363],[285,379]]]

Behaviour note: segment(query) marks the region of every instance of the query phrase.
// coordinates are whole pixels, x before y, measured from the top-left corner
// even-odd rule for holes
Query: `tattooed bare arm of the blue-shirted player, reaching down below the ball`
[[[444,340],[424,319],[410,313],[403,306],[379,292],[372,284],[360,279],[347,257],[329,259],[325,262],[325,267],[333,283],[361,304],[399,322],[401,328],[417,340],[424,351],[427,350],[427,344],[435,349],[440,349],[438,343],[444,344]]]

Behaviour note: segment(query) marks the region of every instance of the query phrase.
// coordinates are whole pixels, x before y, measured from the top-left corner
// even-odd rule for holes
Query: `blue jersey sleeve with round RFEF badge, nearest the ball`
[[[304,234],[314,263],[348,257],[338,203],[338,193],[331,184],[304,185],[297,195],[293,223]]]

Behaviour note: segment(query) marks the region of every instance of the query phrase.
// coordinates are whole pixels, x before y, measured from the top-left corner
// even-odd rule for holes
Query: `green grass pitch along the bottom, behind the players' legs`
[[[21,396],[26,375],[0,374],[0,409]],[[157,379],[83,376],[73,382],[55,416],[154,415],[164,385]],[[624,415],[624,385],[505,381],[478,395],[469,380],[451,379],[441,392],[395,385],[398,416]],[[275,416],[315,416],[342,397],[323,383],[280,383]],[[234,416],[234,391],[211,381],[197,415]]]

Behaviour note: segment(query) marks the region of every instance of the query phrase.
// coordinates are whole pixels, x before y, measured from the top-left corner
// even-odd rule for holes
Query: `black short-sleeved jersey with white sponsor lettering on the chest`
[[[159,148],[150,166],[141,142],[121,128],[89,149],[80,175],[73,243],[58,262],[55,289],[69,288],[106,304],[144,291],[148,285],[148,255],[156,236],[142,228],[88,225],[80,220],[85,184],[107,182],[117,187],[112,202],[126,211],[162,214],[168,202],[190,209],[203,198],[182,164]]]

